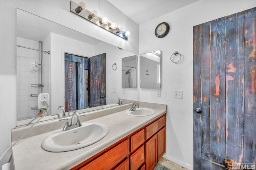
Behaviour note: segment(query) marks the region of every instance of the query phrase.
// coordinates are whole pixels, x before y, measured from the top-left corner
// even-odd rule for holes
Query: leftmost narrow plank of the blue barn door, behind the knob
[[[201,26],[194,26],[193,47],[193,86],[194,86],[194,110],[201,107]],[[201,115],[194,111],[194,169],[201,170]]]

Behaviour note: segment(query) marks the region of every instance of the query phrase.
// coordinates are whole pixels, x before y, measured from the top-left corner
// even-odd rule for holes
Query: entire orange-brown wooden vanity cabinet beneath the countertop
[[[152,170],[166,151],[166,115],[71,170]]]

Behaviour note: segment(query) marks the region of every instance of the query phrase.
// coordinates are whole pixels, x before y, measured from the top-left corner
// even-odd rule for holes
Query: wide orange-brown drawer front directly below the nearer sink
[[[81,170],[111,170],[129,155],[129,140],[120,143],[113,149],[96,158]]]

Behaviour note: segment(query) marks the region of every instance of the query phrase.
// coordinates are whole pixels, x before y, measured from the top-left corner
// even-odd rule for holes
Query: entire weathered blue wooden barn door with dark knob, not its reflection
[[[256,8],[194,26],[194,170],[256,163]]]

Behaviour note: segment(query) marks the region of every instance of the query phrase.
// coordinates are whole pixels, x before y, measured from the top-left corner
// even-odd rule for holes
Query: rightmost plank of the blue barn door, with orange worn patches
[[[256,163],[256,8],[244,11],[244,161]]]

